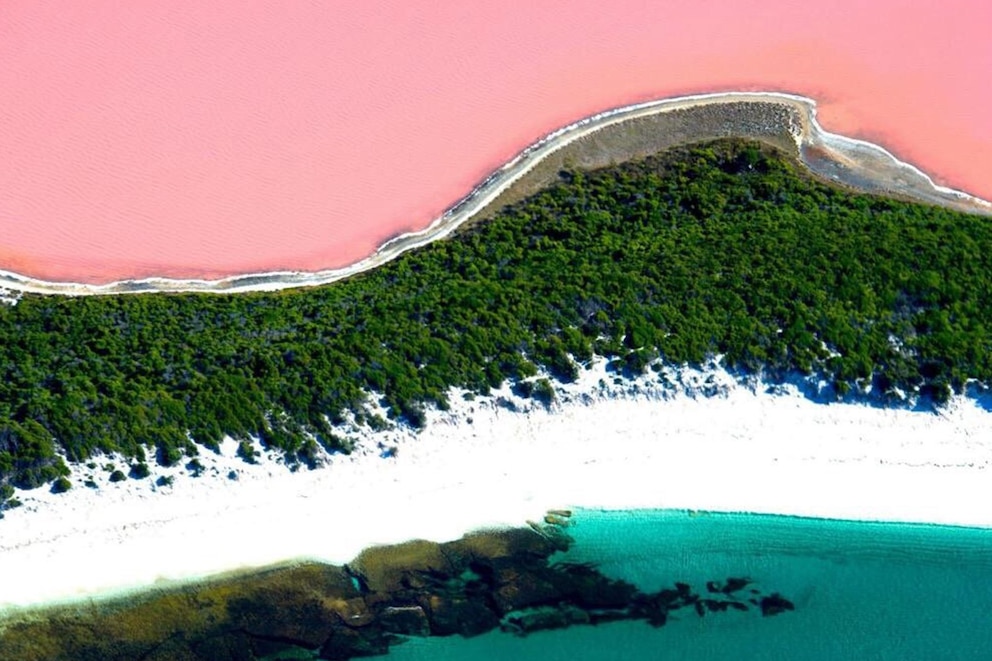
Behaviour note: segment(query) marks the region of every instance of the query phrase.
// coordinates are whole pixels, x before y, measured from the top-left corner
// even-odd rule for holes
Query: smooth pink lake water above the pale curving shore
[[[0,268],[342,266],[536,138],[635,101],[780,90],[992,198],[992,3],[0,3]]]

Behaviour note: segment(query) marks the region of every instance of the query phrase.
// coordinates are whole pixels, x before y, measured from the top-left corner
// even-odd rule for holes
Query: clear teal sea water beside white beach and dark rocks
[[[415,639],[390,661],[992,660],[992,530],[677,511],[578,511],[560,559],[654,591],[748,576],[796,610],[477,638]]]

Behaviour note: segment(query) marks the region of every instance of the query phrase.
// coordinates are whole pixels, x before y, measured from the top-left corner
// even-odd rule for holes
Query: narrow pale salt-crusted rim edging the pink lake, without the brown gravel
[[[780,92],[719,92],[648,101],[607,110],[549,133],[489,175],[423,230],[393,238],[372,255],[350,266],[316,272],[274,271],[236,275],[217,280],[143,278],[106,284],[51,282],[0,270],[0,302],[16,303],[21,293],[86,296],[125,293],[244,293],[277,291],[330,284],[380,266],[408,250],[442,239],[466,222],[491,210],[515,183],[562,148],[605,128],[629,122],[712,106],[765,105],[786,109],[782,126],[763,126],[759,132],[787,132],[795,155],[815,174],[828,181],[871,193],[887,194],[939,204],[971,213],[992,215],[992,203],[964,191],[939,186],[922,170],[898,160],[889,151],[864,140],[825,131],[816,118],[813,99]],[[739,124],[721,127],[712,137],[750,135],[750,119],[741,113]],[[762,133],[763,135],[764,133]],[[704,139],[699,137],[697,139]]]

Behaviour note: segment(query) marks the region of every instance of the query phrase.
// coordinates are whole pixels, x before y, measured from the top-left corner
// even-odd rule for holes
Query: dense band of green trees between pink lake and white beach
[[[696,145],[562,172],[333,285],[2,305],[0,484],[64,476],[59,448],[171,465],[225,435],[312,463],[348,450],[334,424],[367,392],[418,427],[451,386],[569,381],[593,354],[627,374],[723,354],[939,406],[992,381],[990,296],[989,219],[824,185],[757,143]]]

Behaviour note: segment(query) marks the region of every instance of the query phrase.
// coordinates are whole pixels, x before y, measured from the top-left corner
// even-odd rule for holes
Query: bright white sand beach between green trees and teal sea
[[[453,396],[423,432],[365,430],[354,454],[316,470],[248,465],[230,441],[203,452],[200,477],[175,467],[110,483],[113,459],[100,458],[74,469],[67,494],[18,493],[23,505],[0,521],[0,609],[295,558],[346,562],[372,544],[450,540],[553,508],[992,526],[992,413],[975,399],[940,413],[819,404],[717,366],[662,374],[670,385],[652,372],[613,384],[599,361],[550,410],[508,389]],[[174,484],[156,486],[158,474]]]

